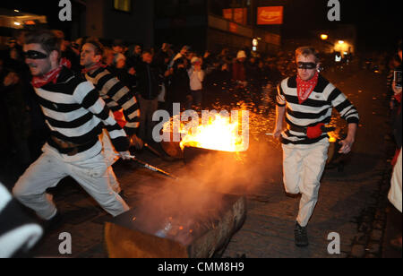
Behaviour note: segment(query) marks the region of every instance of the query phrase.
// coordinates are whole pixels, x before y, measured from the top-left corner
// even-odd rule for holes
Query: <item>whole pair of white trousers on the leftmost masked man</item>
[[[73,177],[112,216],[129,210],[109,184],[107,162],[101,153],[88,160],[66,162],[57,151],[45,151],[17,181],[13,195],[23,205],[36,211],[41,219],[51,220],[57,210],[46,190],[68,176]]]

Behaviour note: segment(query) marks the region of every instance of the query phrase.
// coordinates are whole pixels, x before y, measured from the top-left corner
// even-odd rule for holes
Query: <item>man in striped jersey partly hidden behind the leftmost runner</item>
[[[100,96],[107,103],[107,107],[114,112],[116,121],[124,127],[125,133],[137,149],[141,149],[142,141],[137,137],[140,121],[140,106],[137,99],[123,82],[120,82],[115,75],[109,73],[106,65],[101,63],[103,46],[96,39],[89,39],[81,49],[81,65],[85,67],[83,73],[87,81],[92,82]],[[108,164],[112,165],[116,160],[114,149],[109,137],[104,131],[102,142],[107,154]],[[112,187],[116,193],[121,193],[112,166],[107,169]]]

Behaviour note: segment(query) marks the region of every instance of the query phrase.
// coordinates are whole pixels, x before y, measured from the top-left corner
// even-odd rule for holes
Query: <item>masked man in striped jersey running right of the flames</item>
[[[347,138],[340,142],[339,151],[347,154],[356,139],[359,116],[347,97],[318,73],[320,60],[315,49],[296,49],[296,65],[297,75],[279,84],[274,136],[283,144],[286,192],[302,194],[296,219],[296,246],[308,246],[306,226],[318,200],[330,145],[323,127],[330,123],[332,109],[336,108],[348,124]]]

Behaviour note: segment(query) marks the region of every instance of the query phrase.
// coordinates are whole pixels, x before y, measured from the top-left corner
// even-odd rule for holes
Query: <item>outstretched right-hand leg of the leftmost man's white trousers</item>
[[[129,210],[129,206],[109,184],[107,163],[102,154],[90,160],[68,164],[68,168],[70,176],[112,216],[116,217]]]

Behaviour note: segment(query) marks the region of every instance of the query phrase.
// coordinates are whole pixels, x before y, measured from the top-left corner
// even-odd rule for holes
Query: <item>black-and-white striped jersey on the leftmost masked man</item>
[[[78,154],[69,157],[66,155],[68,150],[48,139],[48,145],[56,148],[66,160],[80,160],[99,154],[102,150],[99,134],[104,126],[116,151],[127,151],[129,143],[124,130],[116,123],[92,83],[74,76],[64,67],[56,83],[47,83],[35,91],[51,136],[80,145]]]

